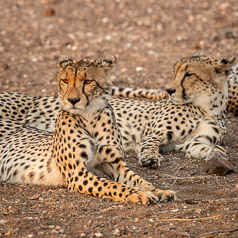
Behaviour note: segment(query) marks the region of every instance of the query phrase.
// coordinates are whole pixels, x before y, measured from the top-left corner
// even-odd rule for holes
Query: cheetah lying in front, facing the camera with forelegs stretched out
[[[2,181],[66,185],[79,193],[142,204],[175,199],[173,191],[156,189],[123,160],[121,134],[109,104],[112,83],[108,75],[115,63],[114,56],[59,59],[60,108],[53,133],[19,123],[17,118],[0,120]],[[29,107],[26,101],[22,98]],[[15,103],[17,107],[21,102]],[[111,180],[94,175],[92,167]]]

